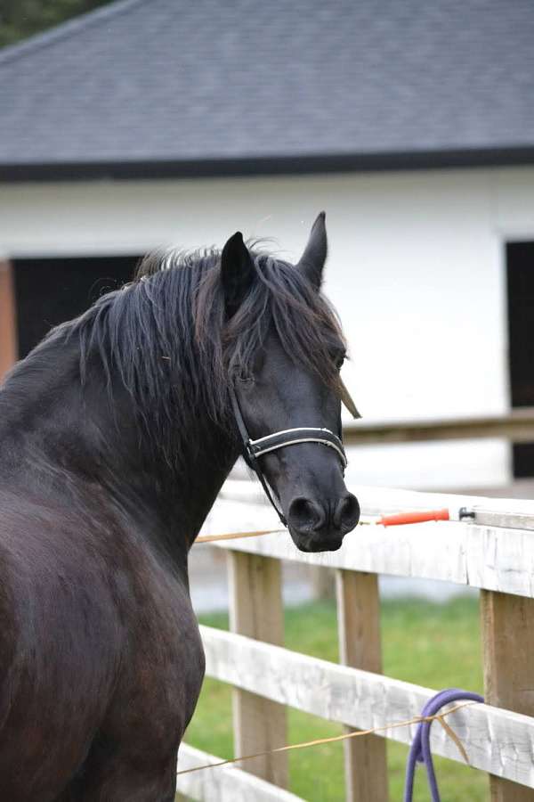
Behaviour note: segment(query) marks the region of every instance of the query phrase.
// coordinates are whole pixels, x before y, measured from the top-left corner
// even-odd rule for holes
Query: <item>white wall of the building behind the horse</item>
[[[236,229],[298,258],[327,210],[325,289],[368,421],[508,408],[504,243],[534,239],[534,168],[0,186],[6,256],[222,245]],[[51,277],[53,280],[53,277]],[[355,450],[350,477],[402,487],[509,479],[502,441]]]

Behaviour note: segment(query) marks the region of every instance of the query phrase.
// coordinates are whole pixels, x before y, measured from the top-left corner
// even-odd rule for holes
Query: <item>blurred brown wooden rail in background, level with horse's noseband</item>
[[[343,430],[345,446],[384,443],[423,443],[435,440],[507,438],[515,443],[534,439],[534,409],[522,408],[507,415],[428,421],[350,423]]]

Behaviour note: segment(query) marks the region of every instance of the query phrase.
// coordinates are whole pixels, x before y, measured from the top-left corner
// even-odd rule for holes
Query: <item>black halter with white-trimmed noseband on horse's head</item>
[[[281,520],[283,525],[287,527],[286,516],[282,511],[279,510],[278,505],[274,502],[271,488],[263,476],[263,471],[260,463],[258,462],[258,457],[262,456],[263,454],[269,454],[271,451],[278,451],[279,448],[284,448],[285,446],[295,446],[296,443],[320,443],[323,446],[329,446],[330,448],[335,449],[339,459],[341,460],[343,469],[345,469],[347,465],[347,457],[344,452],[343,442],[341,439],[341,415],[339,417],[339,437],[337,437],[329,429],[303,426],[298,427],[297,429],[275,431],[271,435],[266,435],[264,438],[252,440],[248,435],[247,426],[243,420],[238,397],[236,396],[236,391],[233,385],[230,385],[230,398],[234,417],[236,419],[236,423],[238,424],[239,435],[241,436],[241,440],[243,442],[243,457],[245,462],[247,462],[249,468],[252,468],[252,470],[255,471],[255,475],[262,483],[265,495],[278,513],[279,520]]]

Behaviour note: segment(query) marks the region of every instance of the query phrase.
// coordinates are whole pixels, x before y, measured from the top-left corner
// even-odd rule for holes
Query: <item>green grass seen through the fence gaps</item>
[[[201,623],[227,628],[225,615],[202,616]],[[436,690],[460,687],[481,692],[481,647],[478,602],[462,598],[438,605],[428,601],[385,601],[382,605],[384,674]],[[336,661],[334,603],[317,602],[287,610],[286,645]],[[417,712],[417,711],[414,711]],[[336,735],[341,728],[315,716],[289,709],[288,741],[309,741]],[[198,708],[187,732],[190,744],[214,755],[232,757],[231,689],[206,679]],[[388,741],[391,802],[402,798],[408,749]],[[447,802],[484,802],[489,798],[484,773],[436,757],[441,798]],[[343,745],[326,744],[290,754],[290,788],[311,802],[344,799]],[[422,772],[417,773],[415,802],[426,802]]]

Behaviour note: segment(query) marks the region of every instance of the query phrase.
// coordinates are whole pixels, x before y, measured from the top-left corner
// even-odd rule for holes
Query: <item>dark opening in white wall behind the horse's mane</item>
[[[15,259],[19,358],[44,335],[131,281],[139,256]]]

